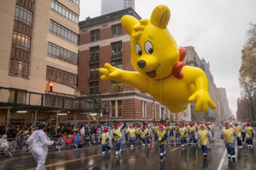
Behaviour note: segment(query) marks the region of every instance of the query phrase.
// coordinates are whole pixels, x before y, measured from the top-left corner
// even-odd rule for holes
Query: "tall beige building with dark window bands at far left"
[[[79,0],[0,1],[1,123],[74,108],[79,13]]]

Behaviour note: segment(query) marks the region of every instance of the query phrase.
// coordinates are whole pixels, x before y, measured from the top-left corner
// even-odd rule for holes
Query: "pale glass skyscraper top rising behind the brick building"
[[[101,14],[109,14],[129,7],[135,10],[134,0],[102,0]]]

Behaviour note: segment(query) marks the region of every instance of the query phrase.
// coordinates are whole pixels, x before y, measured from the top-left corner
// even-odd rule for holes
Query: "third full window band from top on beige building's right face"
[[[48,56],[77,65],[78,54],[48,42]]]

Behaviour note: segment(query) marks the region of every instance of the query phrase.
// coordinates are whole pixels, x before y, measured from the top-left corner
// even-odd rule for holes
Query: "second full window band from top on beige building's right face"
[[[65,40],[67,40],[68,42],[72,42],[75,43],[76,45],[78,44],[77,40],[78,40],[78,35],[76,33],[74,33],[73,31],[70,31],[69,29],[67,29],[64,26],[61,26],[60,24],[50,20],[50,28],[49,31],[52,34],[55,34],[59,37],[64,38]]]

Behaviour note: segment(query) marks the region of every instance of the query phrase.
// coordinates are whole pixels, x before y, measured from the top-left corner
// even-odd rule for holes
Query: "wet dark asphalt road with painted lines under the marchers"
[[[84,145],[79,149],[65,148],[61,152],[49,150],[45,165],[47,170],[256,170],[255,140],[253,148],[236,148],[235,162],[227,158],[220,131],[216,130],[215,144],[208,149],[207,159],[197,146],[181,148],[175,139],[171,139],[167,141],[166,156],[162,159],[159,146],[155,144],[142,147],[137,143],[134,148],[125,144],[118,156],[115,151],[107,151],[102,156],[101,145],[95,144],[93,147]],[[14,158],[0,157],[0,169],[3,170],[32,170],[35,167],[35,160],[30,153]]]

